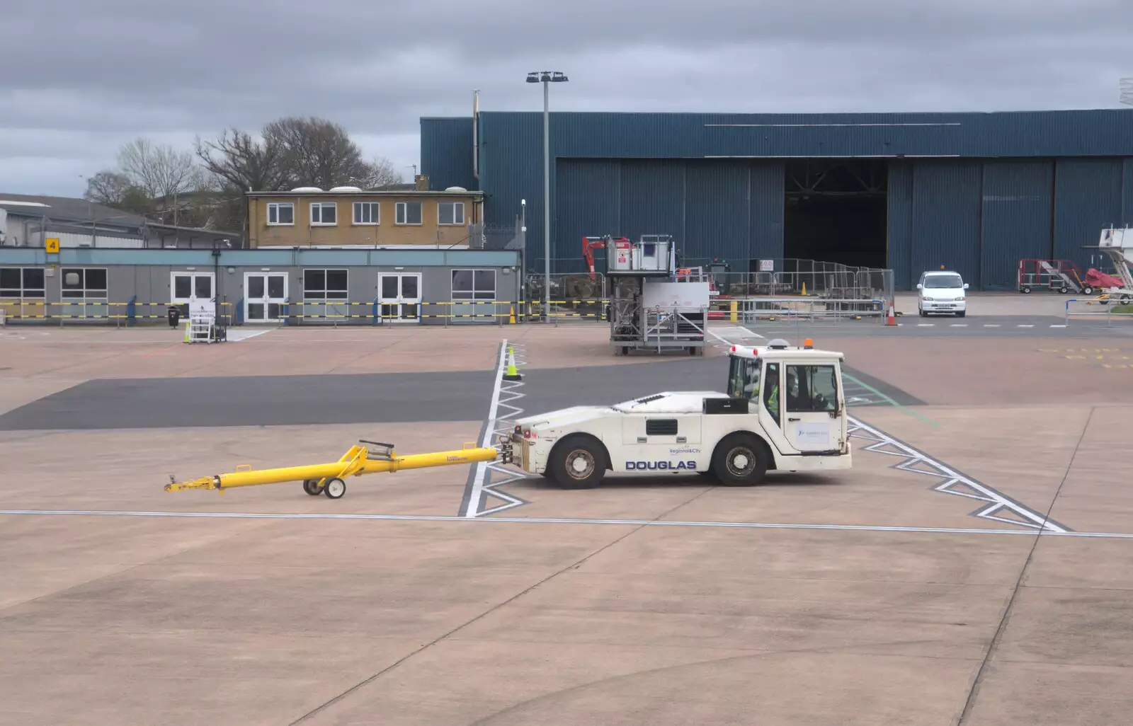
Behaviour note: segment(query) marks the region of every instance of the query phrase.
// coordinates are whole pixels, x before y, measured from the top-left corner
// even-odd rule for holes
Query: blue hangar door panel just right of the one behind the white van
[[[1050,161],[983,163],[979,280],[983,290],[1014,290],[1019,260],[1047,256],[1053,185]]]

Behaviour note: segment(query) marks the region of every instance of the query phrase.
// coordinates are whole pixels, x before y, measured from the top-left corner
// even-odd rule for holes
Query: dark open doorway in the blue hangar
[[[886,266],[885,160],[806,159],[785,171],[784,257]]]

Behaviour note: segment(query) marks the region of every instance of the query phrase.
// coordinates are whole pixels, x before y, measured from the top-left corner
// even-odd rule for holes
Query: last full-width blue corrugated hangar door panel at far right
[[[1122,220],[1122,160],[1059,159],[1055,162],[1054,256],[1090,264],[1087,245]]]

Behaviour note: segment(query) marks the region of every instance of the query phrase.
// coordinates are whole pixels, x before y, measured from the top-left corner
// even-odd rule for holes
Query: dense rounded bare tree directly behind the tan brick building
[[[370,177],[361,150],[347,130],[317,118],[284,118],[264,127],[265,143],[282,151],[289,183],[330,189],[340,185],[361,186]]]

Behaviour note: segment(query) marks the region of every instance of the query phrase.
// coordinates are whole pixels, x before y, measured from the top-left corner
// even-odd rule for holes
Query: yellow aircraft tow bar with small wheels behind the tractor
[[[211,477],[193,479],[191,481],[177,481],[174,477],[170,476],[169,484],[165,485],[165,492],[216,489],[223,494],[224,489],[235,489],[237,487],[303,481],[303,490],[307,494],[312,496],[326,494],[330,498],[338,499],[347,493],[347,485],[343,481],[346,477],[360,477],[364,473],[392,472],[402,469],[452,467],[479,461],[495,461],[496,459],[501,459],[503,463],[511,463],[512,460],[511,445],[503,441],[500,449],[486,449],[476,444],[465,444],[463,449],[455,451],[438,451],[428,454],[410,454],[408,456],[399,456],[393,451],[393,444],[367,441],[360,441],[359,444],[369,444],[376,449],[369,449],[365,445],[351,446],[350,451],[342,454],[341,459],[326,464],[282,467],[279,469],[237,467],[236,471],[229,473],[218,473]]]

